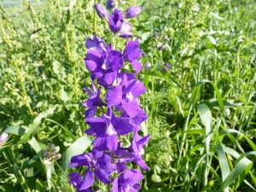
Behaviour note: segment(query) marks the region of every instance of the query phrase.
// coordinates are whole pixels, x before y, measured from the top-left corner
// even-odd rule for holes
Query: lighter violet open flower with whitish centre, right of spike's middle
[[[108,90],[106,95],[108,108],[120,105],[130,118],[134,118],[142,110],[137,97],[145,92],[143,83],[137,79],[131,79],[127,83],[122,82]]]

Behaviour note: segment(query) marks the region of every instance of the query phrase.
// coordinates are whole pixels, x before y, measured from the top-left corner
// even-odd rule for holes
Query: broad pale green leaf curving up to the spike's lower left
[[[67,148],[67,151],[63,155],[62,160],[62,169],[65,172],[67,170],[67,167],[70,163],[71,157],[74,155],[82,154],[90,146],[90,143],[92,143],[92,139],[89,137],[79,137],[69,148]]]

